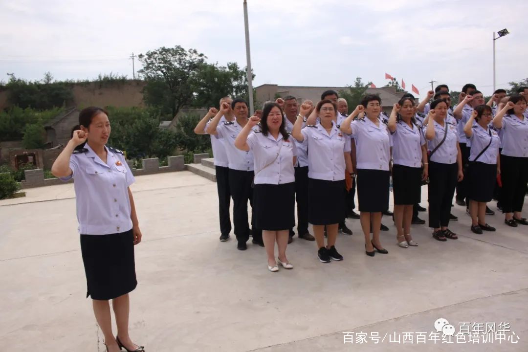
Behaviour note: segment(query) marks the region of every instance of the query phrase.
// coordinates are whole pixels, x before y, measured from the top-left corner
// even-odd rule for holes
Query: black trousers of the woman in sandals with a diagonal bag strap
[[[429,161],[429,227],[449,226],[451,203],[457,186],[458,165]]]

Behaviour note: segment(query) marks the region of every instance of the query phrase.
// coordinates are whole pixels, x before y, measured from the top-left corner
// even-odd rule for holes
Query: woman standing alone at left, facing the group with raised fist
[[[142,238],[129,188],[134,176],[121,151],[106,146],[110,122],[105,110],[83,109],[79,125],[81,130],[73,132],[51,172],[62,180],[75,180],[87,297],[92,298],[107,350],[119,351],[124,346],[129,351],[143,351],[128,335],[128,292],[137,285],[134,245]],[[110,299],[117,324],[115,338]]]

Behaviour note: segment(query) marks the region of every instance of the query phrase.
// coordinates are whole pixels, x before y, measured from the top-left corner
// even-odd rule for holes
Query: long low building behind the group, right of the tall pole
[[[333,89],[337,92],[348,89],[348,87],[303,87],[295,85],[278,85],[278,84],[262,84],[255,88],[257,91],[257,101],[260,103],[268,100],[275,101],[277,97],[284,98],[286,96],[294,96],[299,102],[303,100],[312,100],[317,103],[321,99],[321,94],[325,90]],[[382,88],[367,88],[365,94],[379,94],[383,111],[390,114],[392,107],[397,103],[404,92],[397,92],[393,87]],[[352,112],[355,107],[348,107]]]

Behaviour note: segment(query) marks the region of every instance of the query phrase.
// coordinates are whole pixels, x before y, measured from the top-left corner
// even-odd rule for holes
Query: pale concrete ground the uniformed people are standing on
[[[528,227],[507,227],[502,214],[487,219],[496,233],[475,235],[465,210],[455,206],[460,221],[450,228],[459,240],[438,242],[426,226],[413,225],[420,245],[409,249],[395,244],[384,217],[389,254],[374,258],[364,253],[359,221],[347,220],[354,234],[337,241],[344,261],[319,263],[315,243],[295,237],[288,246],[295,269],[271,273],[259,246],[240,252],[234,236],[218,241],[213,182],[190,172],[136,180],[144,237],[136,247],[130,330],[147,351],[528,350]],[[103,351],[84,298],[73,185],[26,192],[0,201],[2,346]],[[497,329],[508,322],[510,340],[434,344],[429,334],[438,318],[457,332],[459,322],[470,322],[470,330],[475,322],[495,322]],[[344,344],[343,332],[367,333],[367,343]],[[404,332],[412,344],[403,344]],[[426,344],[417,344],[418,332],[427,332]],[[376,333],[383,343],[373,343]],[[398,336],[400,344],[391,342]]]

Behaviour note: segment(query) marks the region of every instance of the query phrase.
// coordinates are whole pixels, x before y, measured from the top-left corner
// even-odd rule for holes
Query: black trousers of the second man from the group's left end
[[[229,169],[229,188],[233,198],[233,225],[234,234],[239,242],[249,239],[248,201],[253,207],[253,182],[254,172]],[[251,234],[256,241],[262,241],[262,231],[253,228],[254,213],[251,215]]]

